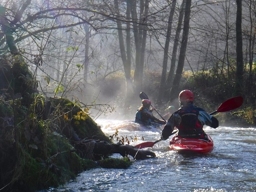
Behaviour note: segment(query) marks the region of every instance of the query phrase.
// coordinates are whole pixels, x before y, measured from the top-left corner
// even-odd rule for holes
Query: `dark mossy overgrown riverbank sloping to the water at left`
[[[113,147],[116,153],[123,151],[112,144],[86,108],[38,94],[37,82],[25,65],[1,64],[0,77],[5,77],[0,79],[1,192],[33,192],[66,183],[87,169],[131,165],[128,158],[108,158]],[[97,141],[103,143],[101,150],[96,149]],[[108,151],[101,154],[104,149]]]

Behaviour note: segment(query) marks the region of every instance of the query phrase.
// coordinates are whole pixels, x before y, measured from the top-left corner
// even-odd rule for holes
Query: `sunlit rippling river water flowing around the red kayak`
[[[127,137],[130,145],[160,138],[159,128],[132,121],[97,120],[102,131]],[[184,156],[169,151],[169,139],[156,143],[157,157],[134,160],[128,169],[97,168],[45,192],[255,192],[256,128],[205,127],[214,142],[211,153]],[[137,136],[137,141],[132,142]],[[144,138],[144,140],[142,140]],[[119,154],[113,157],[121,158]],[[132,159],[132,158],[131,158]]]

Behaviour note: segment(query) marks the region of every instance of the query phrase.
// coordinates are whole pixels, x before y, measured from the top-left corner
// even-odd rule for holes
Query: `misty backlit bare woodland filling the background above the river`
[[[245,96],[255,79],[255,4],[1,0],[0,54],[22,55],[44,93],[83,101],[97,98],[106,78],[123,74],[128,106],[150,71],[161,74],[159,103],[177,97],[187,70],[227,81],[235,72],[233,95]]]

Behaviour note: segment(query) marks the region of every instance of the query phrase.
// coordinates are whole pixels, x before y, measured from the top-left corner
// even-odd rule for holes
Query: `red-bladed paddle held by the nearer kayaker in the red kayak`
[[[226,112],[226,111],[231,111],[233,109],[239,108],[243,104],[243,97],[242,96],[236,96],[232,97],[231,99],[227,99],[224,103],[222,103],[216,111],[213,111],[210,113],[210,115],[213,115],[215,113],[219,112]],[[172,134],[175,134],[177,131],[173,132]],[[155,142],[144,142],[140,143],[138,145],[135,145],[134,147],[136,148],[146,148],[146,147],[153,147],[154,144],[160,142],[160,140],[157,140]]]

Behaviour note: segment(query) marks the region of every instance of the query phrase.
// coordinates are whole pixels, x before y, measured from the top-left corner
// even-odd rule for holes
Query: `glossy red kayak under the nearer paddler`
[[[209,141],[203,139],[182,138],[177,134],[170,141],[170,150],[182,154],[207,154],[213,150],[212,138],[207,134]]]

